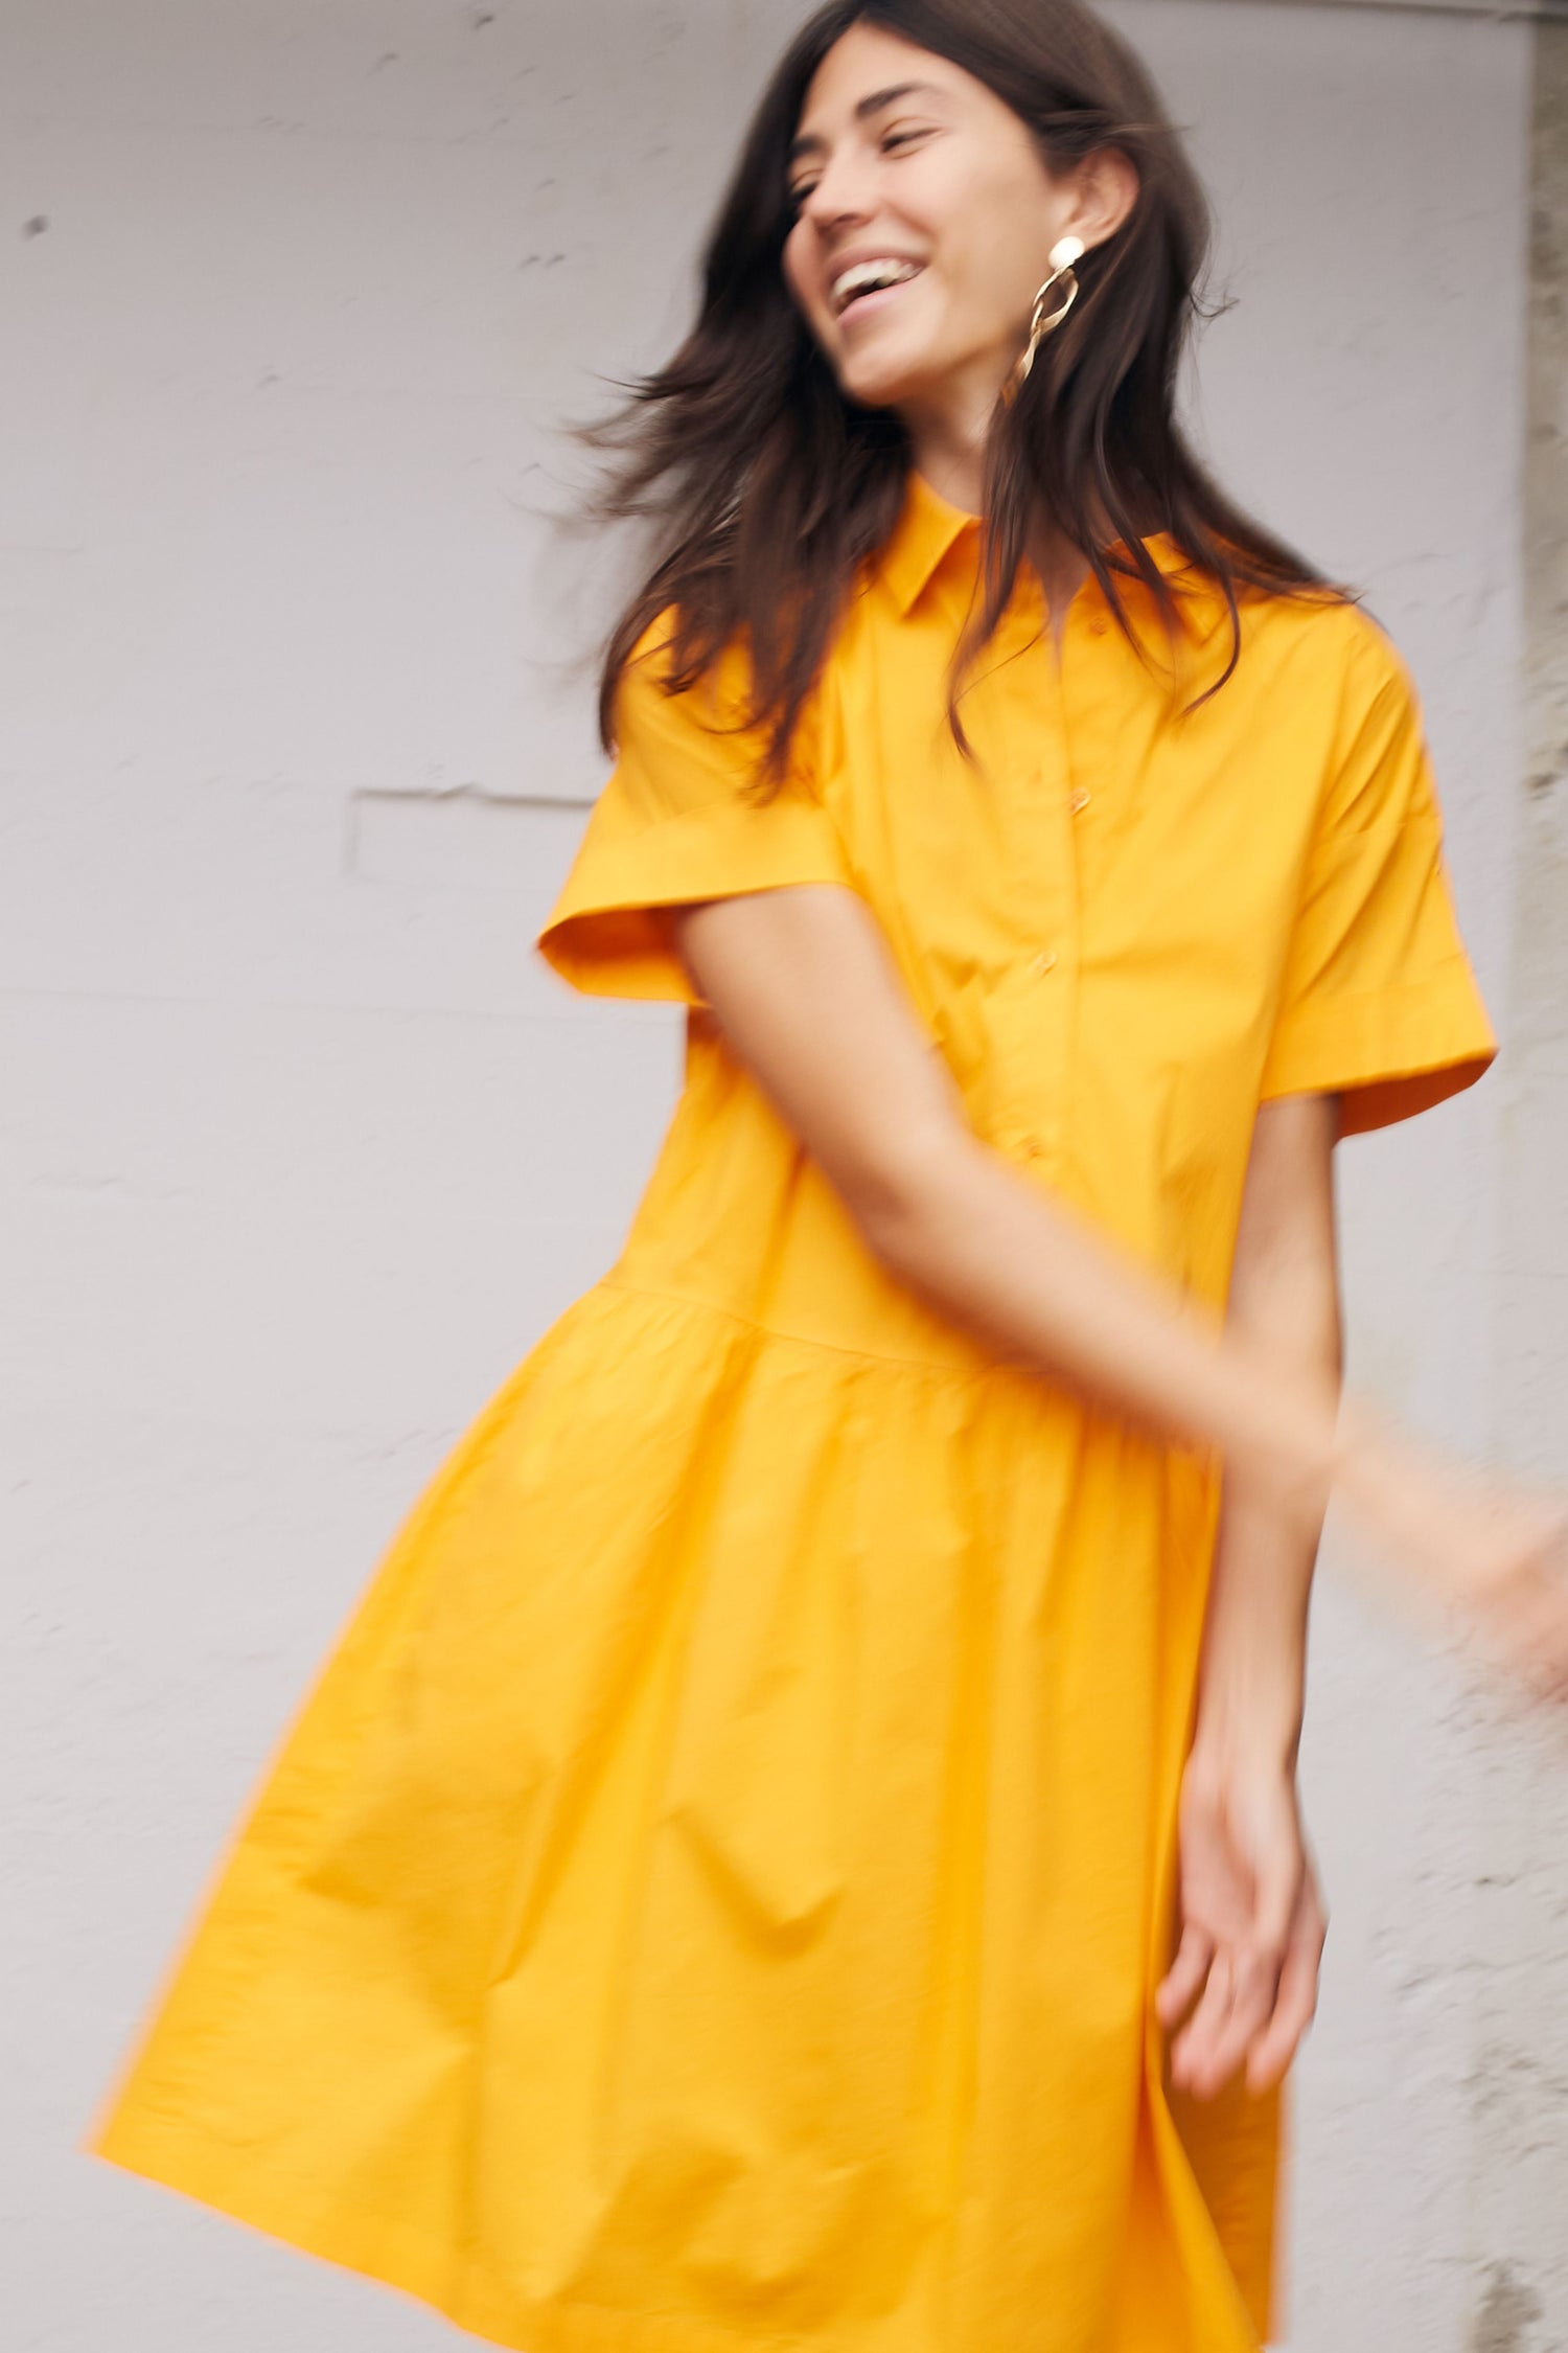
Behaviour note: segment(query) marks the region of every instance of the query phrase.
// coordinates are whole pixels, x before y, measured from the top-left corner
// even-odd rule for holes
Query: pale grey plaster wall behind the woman
[[[604,772],[557,661],[616,576],[538,511],[576,464],[550,426],[679,329],[797,14],[0,19],[7,2348],[449,2341],[75,2137],[397,1518],[609,1264],[668,1115],[677,1016],[576,1000],[529,953]],[[1345,1153],[1356,1372],[1568,1471],[1547,619],[1528,793],[1516,694],[1533,28],[1114,14],[1225,221],[1204,433],[1406,647],[1509,1035],[1481,1092]],[[1568,595],[1549,54],[1540,616]],[[1561,1769],[1354,1588],[1324,1591],[1314,1649],[1335,1927],[1293,2341],[1544,2353]]]

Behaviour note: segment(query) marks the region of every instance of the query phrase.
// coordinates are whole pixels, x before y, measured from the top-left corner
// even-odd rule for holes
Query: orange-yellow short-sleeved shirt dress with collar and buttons
[[[731,1056],[663,908],[839,882],[976,1132],[1220,1304],[1262,1099],[1474,1080],[1420,718],[1352,607],[1164,539],[1187,685],[910,475],[785,793],[738,647],[618,765],[538,948],[686,1012],[616,1264],[409,1513],[85,2146],[529,2353],[1246,2353],[1276,2101],[1152,1988],[1215,1468],[922,1306]]]

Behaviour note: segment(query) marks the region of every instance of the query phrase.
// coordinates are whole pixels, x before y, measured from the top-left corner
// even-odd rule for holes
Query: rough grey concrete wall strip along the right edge
[[[1495,1438],[1568,1457],[1568,24],[1535,33],[1521,842],[1500,1094]],[[1568,2344],[1568,1769],[1490,1751],[1474,1920],[1476,2353]]]

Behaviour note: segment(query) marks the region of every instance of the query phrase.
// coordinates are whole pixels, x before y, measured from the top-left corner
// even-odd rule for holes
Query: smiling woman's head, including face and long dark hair
[[[670,609],[677,687],[745,633],[769,718],[764,776],[778,781],[910,461],[992,525],[976,609],[947,656],[959,746],[964,678],[1020,565],[1044,584],[1051,626],[1081,579],[1114,626],[1126,626],[1124,581],[1171,626],[1150,553],[1168,529],[1227,602],[1232,659],[1239,595],[1324,586],[1204,473],[1173,414],[1206,235],[1204,191],[1157,89],[1088,9],[846,0],[818,12],[752,120],[708,242],[698,325],[625,416],[585,428],[597,447],[630,440],[599,520],[656,504],[670,548],[609,638],[604,744],[616,680]],[[1051,306],[1030,353],[1063,240],[1077,247],[1077,308]],[[844,299],[846,273],[889,261],[910,275]]]

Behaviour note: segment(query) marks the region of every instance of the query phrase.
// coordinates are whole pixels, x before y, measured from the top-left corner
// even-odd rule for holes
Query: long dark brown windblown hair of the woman
[[[790,141],[816,68],[853,24],[973,73],[1020,115],[1046,169],[1070,172],[1114,146],[1140,179],[1124,226],[1079,261],[1067,322],[1039,346],[1018,398],[997,402],[985,447],[985,600],[947,675],[959,751],[969,755],[961,678],[1006,612],[1041,515],[1086,558],[1135,645],[1119,579],[1143,581],[1166,631],[1180,628],[1145,536],[1166,532],[1218,584],[1232,642],[1211,694],[1239,659],[1244,593],[1335,593],[1225,496],[1175,421],[1208,205],[1138,54],[1081,0],[830,0],[795,35],[752,115],[708,233],[686,341],[656,374],[621,384],[630,398],[616,414],[574,428],[581,442],[618,452],[588,501],[590,520],[656,522],[651,569],[602,656],[604,751],[616,751],[625,659],[675,605],[670,692],[696,685],[736,633],[745,638],[750,725],[769,722],[764,795],[785,776],[844,598],[893,529],[910,466],[903,421],[844,398],[783,278]]]

